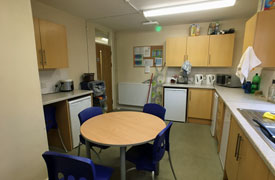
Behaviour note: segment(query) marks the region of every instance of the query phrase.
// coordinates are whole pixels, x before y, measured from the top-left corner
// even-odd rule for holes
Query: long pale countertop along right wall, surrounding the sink
[[[250,140],[256,151],[259,153],[269,170],[275,175],[275,151],[262,139],[249,122],[241,115],[238,108],[274,111],[275,104],[265,101],[262,97],[253,94],[245,94],[240,88],[226,88],[215,86],[219,96],[236,118],[241,129]]]

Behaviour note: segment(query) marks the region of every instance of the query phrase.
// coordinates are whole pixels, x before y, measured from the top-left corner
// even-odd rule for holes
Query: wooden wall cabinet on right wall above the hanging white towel
[[[245,25],[243,52],[248,46],[262,61],[261,67],[275,67],[275,10],[263,11],[251,17]]]

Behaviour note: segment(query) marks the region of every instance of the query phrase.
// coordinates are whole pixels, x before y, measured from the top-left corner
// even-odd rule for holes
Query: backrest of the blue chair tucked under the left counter
[[[46,121],[46,130],[49,131],[50,129],[56,129],[57,123],[55,118],[56,109],[52,105],[46,105],[43,107],[44,109],[44,118]]]

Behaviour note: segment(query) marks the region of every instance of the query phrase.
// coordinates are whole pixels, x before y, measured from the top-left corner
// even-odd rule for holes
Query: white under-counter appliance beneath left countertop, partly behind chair
[[[69,101],[73,148],[77,147],[79,144],[80,121],[78,118],[78,113],[88,107],[91,107],[91,103],[91,96],[85,96]]]

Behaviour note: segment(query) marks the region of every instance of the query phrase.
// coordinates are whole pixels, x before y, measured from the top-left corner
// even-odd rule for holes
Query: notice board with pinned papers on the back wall
[[[163,46],[135,46],[133,48],[134,67],[162,67]]]

